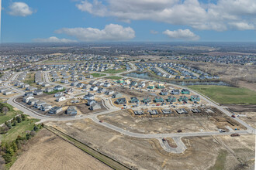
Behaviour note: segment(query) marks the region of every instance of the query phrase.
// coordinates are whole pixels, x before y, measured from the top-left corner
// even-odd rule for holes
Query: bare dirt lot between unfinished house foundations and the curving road
[[[176,114],[175,117],[134,117],[123,110],[101,115],[99,119],[128,131],[145,134],[176,133],[179,129],[183,132],[217,131],[220,128],[228,130],[226,126],[240,128],[236,122],[219,114],[213,117],[189,114]]]

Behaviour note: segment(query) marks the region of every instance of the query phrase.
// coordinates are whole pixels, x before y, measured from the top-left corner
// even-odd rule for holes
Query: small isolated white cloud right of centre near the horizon
[[[200,37],[195,35],[189,29],[178,29],[175,31],[165,30],[163,34],[167,35],[170,39],[182,39],[182,40],[199,40]]]

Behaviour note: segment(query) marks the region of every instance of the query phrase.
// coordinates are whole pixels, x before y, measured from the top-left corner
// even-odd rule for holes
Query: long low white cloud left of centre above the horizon
[[[92,41],[123,41],[133,39],[135,32],[132,28],[119,26],[116,24],[106,25],[104,29],[95,28],[64,28],[55,31],[56,33],[64,33],[68,36],[74,36],[85,42]]]

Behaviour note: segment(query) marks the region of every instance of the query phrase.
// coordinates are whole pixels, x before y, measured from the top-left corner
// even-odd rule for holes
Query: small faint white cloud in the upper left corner
[[[33,9],[24,2],[12,2],[12,4],[9,6],[9,15],[25,17],[32,14]]]

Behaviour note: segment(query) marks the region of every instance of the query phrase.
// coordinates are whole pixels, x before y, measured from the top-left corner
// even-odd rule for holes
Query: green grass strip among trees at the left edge
[[[26,119],[26,121],[22,121],[17,123],[16,126],[12,126],[12,128],[7,132],[7,134],[2,134],[1,139],[2,141],[14,141],[16,140],[17,136],[25,136],[26,131],[33,130],[34,124],[40,121],[38,119]]]

